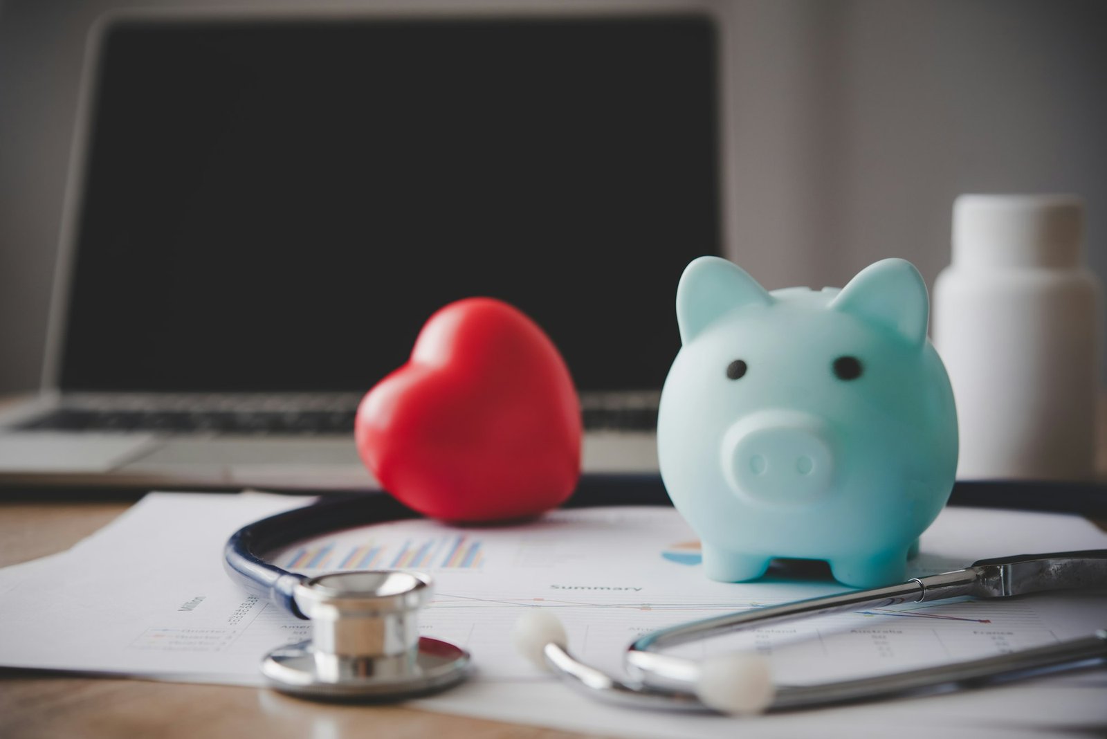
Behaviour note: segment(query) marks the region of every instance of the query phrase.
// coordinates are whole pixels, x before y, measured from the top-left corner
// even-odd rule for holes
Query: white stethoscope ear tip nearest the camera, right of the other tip
[[[773,704],[776,688],[768,660],[755,654],[734,652],[700,663],[696,697],[714,710],[732,716],[761,714]]]

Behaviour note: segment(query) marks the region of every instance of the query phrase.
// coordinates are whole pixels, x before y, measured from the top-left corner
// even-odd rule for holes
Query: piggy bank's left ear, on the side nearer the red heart
[[[749,303],[772,305],[773,296],[733,262],[718,257],[692,260],[676,287],[681,343],[687,344],[723,313]]]

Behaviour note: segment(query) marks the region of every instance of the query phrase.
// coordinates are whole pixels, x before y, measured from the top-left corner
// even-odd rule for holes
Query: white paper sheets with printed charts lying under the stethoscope
[[[155,493],[70,552],[0,570],[0,665],[260,685],[269,649],[307,638],[307,622],[239,591],[221,550],[240,525],[303,499]],[[922,540],[918,574],[985,556],[1107,547],[1076,517],[948,509]],[[672,509],[555,512],[521,527],[403,521],[340,532],[275,555],[307,573],[410,568],[436,580],[422,632],[473,653],[470,684],[417,701],[433,710],[627,736],[730,736],[735,719],[628,711],[589,701],[537,672],[508,644],[526,608],[556,608],[579,656],[612,670],[635,635],[690,618],[838,592],[828,579],[707,581],[695,537]],[[962,601],[828,616],[691,645],[766,655],[779,684],[893,672],[1082,636],[1107,626],[1107,594]],[[980,731],[996,714],[1035,727],[1107,727],[1103,672],[962,696],[744,720],[744,733],[836,733],[888,721]],[[841,724],[838,724],[839,718]],[[829,721],[829,722],[828,722]],[[979,726],[977,726],[979,725]],[[929,727],[929,728],[928,728]],[[920,729],[921,730],[921,729]],[[897,730],[897,735],[902,732]]]

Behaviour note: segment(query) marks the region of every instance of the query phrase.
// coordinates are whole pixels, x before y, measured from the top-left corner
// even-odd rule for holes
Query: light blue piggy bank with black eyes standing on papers
[[[717,257],[687,266],[658,455],[708,577],[753,580],[773,558],[800,558],[857,587],[904,580],[958,462],[929,309],[901,259],[818,292],[767,292]]]

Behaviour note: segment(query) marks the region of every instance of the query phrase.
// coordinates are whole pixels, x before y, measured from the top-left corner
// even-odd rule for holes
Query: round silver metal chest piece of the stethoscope
[[[269,653],[261,672],[292,695],[397,700],[465,679],[469,654],[418,635],[418,610],[431,600],[424,575],[340,572],[306,580],[296,606],[311,620],[311,639]]]

